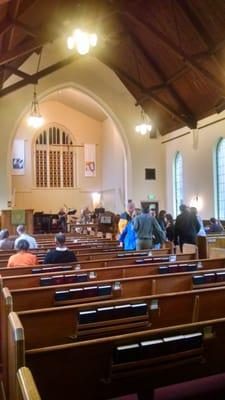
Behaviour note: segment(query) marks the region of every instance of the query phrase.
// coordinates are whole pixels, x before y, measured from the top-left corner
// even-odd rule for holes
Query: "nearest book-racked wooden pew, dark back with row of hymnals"
[[[15,340],[18,330],[23,327],[11,313],[10,387],[26,362],[41,397],[48,400],[70,398],[73,391],[77,400],[129,393],[150,399],[155,387],[225,370],[224,318],[30,350],[24,340]]]

